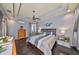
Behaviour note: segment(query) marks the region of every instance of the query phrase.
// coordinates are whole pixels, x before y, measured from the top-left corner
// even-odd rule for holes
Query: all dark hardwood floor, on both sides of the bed
[[[44,55],[42,51],[28,42],[20,42],[19,40],[15,40],[15,42],[17,55]],[[51,51],[52,55],[79,55],[74,49],[58,44],[55,44]]]

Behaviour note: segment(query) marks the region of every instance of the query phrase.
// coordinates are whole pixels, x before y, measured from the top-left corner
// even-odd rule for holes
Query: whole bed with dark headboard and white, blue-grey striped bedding
[[[32,36],[28,40],[45,55],[52,55],[51,49],[56,41],[56,29],[42,29],[42,34]]]

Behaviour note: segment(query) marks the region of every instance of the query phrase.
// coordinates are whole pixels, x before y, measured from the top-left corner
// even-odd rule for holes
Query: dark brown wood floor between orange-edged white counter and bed
[[[19,40],[15,42],[17,55],[43,55],[43,52],[29,42],[20,42]]]

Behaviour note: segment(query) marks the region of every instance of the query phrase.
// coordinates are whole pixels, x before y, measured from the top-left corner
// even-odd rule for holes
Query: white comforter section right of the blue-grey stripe
[[[52,55],[51,49],[56,42],[56,38],[52,35],[47,37],[46,39],[42,39],[39,41],[37,47],[44,52],[45,55]]]

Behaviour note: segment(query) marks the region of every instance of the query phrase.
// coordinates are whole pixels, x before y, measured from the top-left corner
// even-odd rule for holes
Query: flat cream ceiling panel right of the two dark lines
[[[58,8],[62,4],[22,4],[22,8],[20,10],[21,16],[27,16],[30,17],[33,15],[32,11],[36,11],[36,15],[39,17],[55,8]]]

